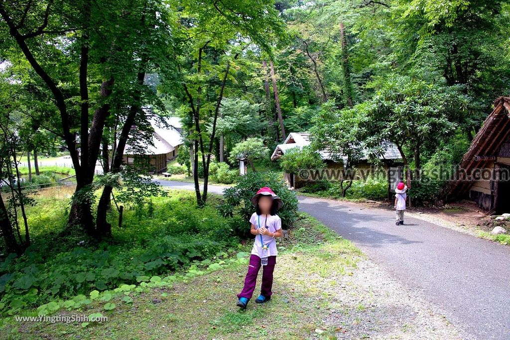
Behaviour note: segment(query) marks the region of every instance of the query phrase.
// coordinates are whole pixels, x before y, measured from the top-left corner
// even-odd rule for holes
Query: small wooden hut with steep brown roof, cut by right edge
[[[510,98],[499,97],[463,156],[445,201],[468,198],[488,213],[510,212]]]

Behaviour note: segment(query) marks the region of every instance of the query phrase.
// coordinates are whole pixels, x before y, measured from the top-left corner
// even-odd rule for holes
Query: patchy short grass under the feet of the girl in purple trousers
[[[239,250],[249,251],[251,242]],[[253,300],[246,310],[235,305],[246,273],[247,258],[243,257],[242,263],[233,261],[216,271],[177,280],[171,286],[132,292],[132,303],[114,298],[110,302],[117,307],[111,311],[94,300],[81,310],[56,313],[101,312],[109,318],[102,323],[83,328],[80,323],[14,322],[4,331],[12,331],[13,339],[302,339],[317,335],[315,330],[319,328],[324,330],[322,338],[335,338],[335,329],[321,321],[333,303],[322,293],[322,285],[337,289],[338,283],[327,278],[352,275],[363,255],[349,241],[304,213],[290,231],[290,238],[278,243],[273,296],[263,305]]]

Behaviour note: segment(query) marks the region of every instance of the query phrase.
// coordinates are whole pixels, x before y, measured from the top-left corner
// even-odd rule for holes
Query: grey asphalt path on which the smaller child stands
[[[192,184],[165,181],[192,189]],[[222,187],[209,186],[221,193]],[[465,338],[510,339],[510,247],[359,204],[298,196],[299,209],[351,240],[400,282],[421,290]]]

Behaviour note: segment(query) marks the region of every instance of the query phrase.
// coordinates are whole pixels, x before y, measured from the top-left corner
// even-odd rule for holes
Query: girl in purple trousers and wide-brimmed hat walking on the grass
[[[282,219],[276,215],[276,211],[282,207],[282,199],[268,187],[260,190],[251,198],[251,203],[256,206],[256,212],[251,215],[251,234],[255,235],[251,250],[248,272],[244,279],[244,287],[237,295],[237,305],[246,308],[248,301],[253,296],[257,276],[260,267],[262,271],[261,294],[255,300],[264,303],[271,299],[271,287],[273,285],[273,270],[276,264],[276,238],[282,237]]]

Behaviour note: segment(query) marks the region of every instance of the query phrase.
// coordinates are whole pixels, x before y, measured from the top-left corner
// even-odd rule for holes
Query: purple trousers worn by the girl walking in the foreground
[[[262,287],[260,294],[265,297],[271,296],[271,287],[273,286],[273,270],[276,264],[276,255],[267,257],[267,265],[262,266]],[[257,275],[261,267],[260,257],[254,254],[250,256],[250,263],[248,264],[248,273],[244,278],[243,291],[237,295],[238,298],[251,299],[255,285],[257,284]]]

